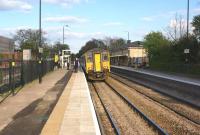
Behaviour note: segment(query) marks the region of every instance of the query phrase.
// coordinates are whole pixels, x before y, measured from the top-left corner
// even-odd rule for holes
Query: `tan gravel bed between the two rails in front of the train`
[[[153,135],[157,134],[146,121],[135,113],[119,96],[104,82],[95,83],[102,100],[115,119],[121,134]]]

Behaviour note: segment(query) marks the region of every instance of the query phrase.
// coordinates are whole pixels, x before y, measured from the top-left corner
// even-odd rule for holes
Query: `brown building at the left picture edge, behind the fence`
[[[14,52],[14,42],[12,39],[0,36],[0,53]]]

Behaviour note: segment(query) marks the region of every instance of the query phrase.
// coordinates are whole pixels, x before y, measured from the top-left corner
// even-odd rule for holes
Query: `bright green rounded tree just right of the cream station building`
[[[150,32],[144,37],[144,47],[150,58],[159,56],[160,48],[169,44],[170,41],[161,32]]]

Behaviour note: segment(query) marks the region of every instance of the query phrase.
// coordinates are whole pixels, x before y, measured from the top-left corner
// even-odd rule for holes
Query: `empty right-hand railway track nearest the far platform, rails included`
[[[182,102],[182,100],[179,100],[178,98],[172,97],[170,95],[166,95],[165,93],[162,92],[157,92],[157,91],[151,91],[151,89],[146,89],[138,87],[137,84],[135,84],[133,81],[128,79],[127,77],[121,76],[121,75],[115,75],[112,74],[111,77],[124,85],[132,88],[133,90],[137,91],[138,93],[144,95],[145,97],[150,98],[151,100],[157,102],[158,104],[161,104],[165,106],[166,108],[169,108],[176,114],[186,118],[187,120],[200,125],[200,110],[197,109],[194,106],[191,106],[190,104],[185,104],[185,102]],[[159,98],[157,98],[159,96]],[[174,102],[174,104],[177,104],[176,106],[163,102],[162,99],[168,99]],[[179,107],[179,108],[177,108]],[[184,111],[185,109],[190,110],[189,112]]]

